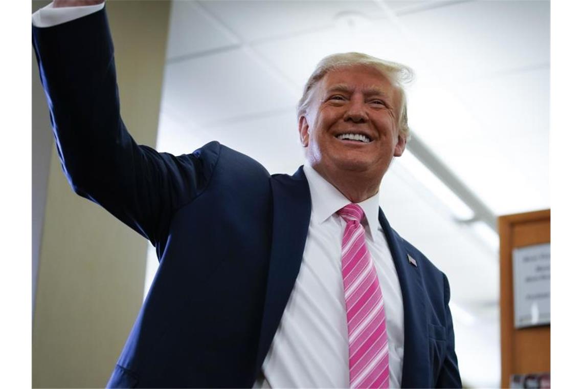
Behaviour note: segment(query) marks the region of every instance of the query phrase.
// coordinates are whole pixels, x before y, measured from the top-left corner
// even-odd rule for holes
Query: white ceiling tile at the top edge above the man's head
[[[322,29],[349,16],[382,16],[373,1],[201,1],[201,5],[247,42]]]

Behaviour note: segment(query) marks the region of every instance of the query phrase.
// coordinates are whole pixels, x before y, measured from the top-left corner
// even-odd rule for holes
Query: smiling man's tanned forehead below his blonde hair
[[[319,83],[322,92],[328,90],[359,90],[391,96],[395,87],[388,76],[380,70],[366,65],[345,66],[326,73]]]

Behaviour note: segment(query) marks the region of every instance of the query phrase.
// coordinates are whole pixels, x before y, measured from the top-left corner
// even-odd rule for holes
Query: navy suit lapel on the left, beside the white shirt
[[[254,377],[259,374],[291,290],[296,283],[312,208],[310,187],[302,167],[293,176],[286,174],[273,176],[271,190],[273,236]]]

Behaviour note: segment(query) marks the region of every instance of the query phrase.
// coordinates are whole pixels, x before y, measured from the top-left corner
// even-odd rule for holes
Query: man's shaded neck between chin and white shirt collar
[[[373,197],[381,186],[380,180],[367,177],[367,174],[361,171],[339,171],[326,174],[318,166],[312,166],[312,168],[353,203]]]

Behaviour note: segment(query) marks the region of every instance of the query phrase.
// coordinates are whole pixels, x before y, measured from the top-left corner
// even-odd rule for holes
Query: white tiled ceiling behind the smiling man
[[[157,148],[217,140],[293,173],[305,80],[325,55],[360,51],[415,70],[409,124],[430,165],[491,215],[550,208],[549,14],[548,1],[174,1]],[[381,206],[448,275],[464,384],[500,386],[496,233],[461,222],[416,156],[391,165]]]

